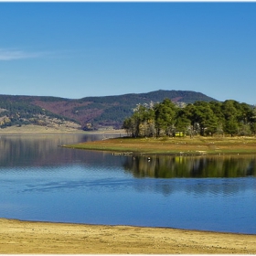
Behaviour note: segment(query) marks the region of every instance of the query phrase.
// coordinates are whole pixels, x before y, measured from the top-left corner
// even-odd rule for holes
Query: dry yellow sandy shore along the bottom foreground
[[[0,253],[255,254],[256,235],[0,219]]]

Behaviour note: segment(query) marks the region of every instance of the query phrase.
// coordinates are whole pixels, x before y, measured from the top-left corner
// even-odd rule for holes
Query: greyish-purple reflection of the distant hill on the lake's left
[[[72,163],[74,159],[82,159],[84,155],[74,150],[60,148],[59,145],[114,136],[111,134],[2,135],[0,136],[0,167],[66,165]],[[88,155],[93,158],[93,154]]]

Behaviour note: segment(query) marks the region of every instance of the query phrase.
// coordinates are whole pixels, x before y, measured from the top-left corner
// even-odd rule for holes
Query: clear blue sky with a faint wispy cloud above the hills
[[[160,89],[256,104],[256,3],[0,3],[0,94]]]

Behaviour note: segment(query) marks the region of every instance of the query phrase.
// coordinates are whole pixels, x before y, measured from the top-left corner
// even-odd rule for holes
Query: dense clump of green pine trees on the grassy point
[[[251,135],[256,133],[256,108],[233,100],[196,101],[181,108],[165,99],[137,105],[123,129],[133,137]]]

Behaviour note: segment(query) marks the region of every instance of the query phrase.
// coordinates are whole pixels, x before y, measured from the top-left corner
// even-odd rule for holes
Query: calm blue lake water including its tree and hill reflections
[[[0,137],[0,218],[256,234],[256,156],[114,156]]]

